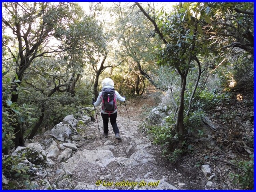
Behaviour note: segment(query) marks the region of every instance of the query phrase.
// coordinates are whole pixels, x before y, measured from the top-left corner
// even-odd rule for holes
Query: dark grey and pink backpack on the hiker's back
[[[103,111],[111,114],[117,109],[116,94],[113,87],[102,90],[102,107]]]

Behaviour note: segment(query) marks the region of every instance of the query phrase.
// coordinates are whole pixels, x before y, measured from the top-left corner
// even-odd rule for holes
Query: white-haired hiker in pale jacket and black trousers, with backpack
[[[108,132],[109,132],[109,118],[110,118],[110,123],[113,127],[113,131],[115,133],[115,138],[118,140],[121,140],[122,137],[120,137],[119,135],[119,129],[117,127],[116,124],[116,117],[117,117],[117,104],[116,101],[125,101],[125,97],[121,97],[121,95],[115,91],[114,89],[114,82],[112,79],[110,78],[105,78],[102,81],[102,91],[99,93],[99,96],[97,98],[97,101],[95,102],[94,98],[93,98],[93,105],[95,107],[99,106],[102,102],[102,107],[101,107],[101,117],[103,119],[103,130],[104,132],[102,133],[104,135],[104,137],[108,137]],[[105,96],[105,95],[113,95],[113,97],[111,96]],[[106,98],[106,99],[105,99]],[[108,107],[111,107],[108,108]],[[113,108],[112,108],[113,107]],[[109,109],[109,110],[107,110]]]

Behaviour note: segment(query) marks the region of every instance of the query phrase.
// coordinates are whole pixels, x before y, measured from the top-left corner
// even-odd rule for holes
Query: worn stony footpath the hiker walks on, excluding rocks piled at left
[[[159,180],[158,186],[145,187],[149,189],[204,189],[207,181],[201,181],[201,173],[195,174],[200,171],[199,169],[171,165],[161,156],[161,148],[152,144],[147,135],[138,128],[144,118],[142,115],[144,109],[157,104],[155,99],[157,98],[157,92],[154,89],[146,91],[143,97],[127,101],[130,122],[125,106],[120,105],[118,107],[117,125],[120,130],[120,136],[123,137],[122,141],[115,139],[110,123],[109,137],[101,137],[101,139],[97,122],[88,124],[87,134],[91,138],[83,143],[83,147],[80,150],[90,150],[95,153],[99,152],[99,150],[105,150],[102,151],[102,155],[104,153],[112,153],[113,156],[104,160],[96,159],[98,164],[109,161],[106,166],[98,166],[87,162],[76,166],[72,175],[72,180],[75,181],[74,186],[78,186],[75,189],[97,189],[97,181],[101,182],[98,187],[104,187],[109,182],[108,189],[137,189],[141,187],[139,184],[142,181],[148,185],[149,182],[155,182],[156,184]],[[99,111],[98,121],[100,132],[102,133],[103,123]],[[112,186],[111,182],[113,182]],[[126,183],[120,184],[118,182]],[[132,186],[129,182],[137,182],[137,186]],[[116,183],[117,186],[114,186]],[[202,185],[201,183],[204,184]],[[87,187],[84,187],[83,184],[86,184]],[[88,184],[90,187],[88,187]],[[120,185],[118,186],[118,184]]]

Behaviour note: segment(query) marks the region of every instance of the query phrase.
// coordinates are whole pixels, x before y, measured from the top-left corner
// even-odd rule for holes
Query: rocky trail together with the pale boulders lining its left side
[[[211,189],[200,168],[172,165],[161,156],[161,147],[138,128],[145,118],[144,109],[159,102],[153,94],[157,93],[147,90],[145,96],[126,102],[130,122],[125,106],[119,104],[121,141],[115,139],[110,122],[109,137],[102,136],[97,108],[100,133],[96,119],[81,116],[76,120],[70,115],[52,130],[28,140],[26,147],[18,147],[14,154],[32,150],[36,157],[27,157],[29,162],[24,164],[44,164],[31,169],[36,189]]]

